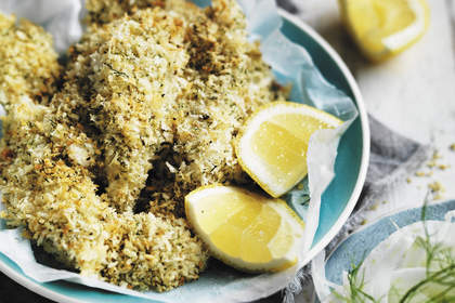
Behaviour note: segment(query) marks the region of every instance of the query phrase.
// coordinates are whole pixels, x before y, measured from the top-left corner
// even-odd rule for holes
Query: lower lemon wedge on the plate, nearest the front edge
[[[185,197],[185,212],[212,255],[237,269],[277,272],[298,261],[304,223],[283,200],[210,185]]]

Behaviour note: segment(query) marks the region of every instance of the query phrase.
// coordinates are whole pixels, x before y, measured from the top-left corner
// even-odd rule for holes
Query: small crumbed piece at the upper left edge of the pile
[[[52,37],[28,21],[0,13],[0,103],[27,95],[47,104],[61,74]]]

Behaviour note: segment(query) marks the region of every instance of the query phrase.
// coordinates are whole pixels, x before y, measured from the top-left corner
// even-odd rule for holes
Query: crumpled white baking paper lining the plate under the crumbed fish
[[[207,0],[194,2],[199,5],[209,3]],[[0,252],[14,261],[27,276],[39,282],[64,279],[161,302],[185,302],[187,298],[198,298],[198,302],[239,302],[256,300],[278,291],[290,281],[297,269],[304,265],[301,261],[310,250],[318,226],[321,195],[334,177],[339,139],[358,111],[343,92],[323,78],[309,53],[280,31],[282,19],[273,0],[238,2],[247,16],[250,39],[261,41],[264,61],[272,66],[281,83],[292,84],[291,100],[316,106],[346,121],[338,129],[317,131],[311,137],[308,150],[309,176],[303,181],[304,189],[295,189],[286,196],[288,202],[306,221],[300,262],[287,271],[261,275],[243,274],[212,262],[210,268],[203,273],[197,281],[165,293],[138,292],[41,265],[35,261],[30,243],[22,238],[20,229],[4,229],[4,226],[0,226],[3,228],[0,232]],[[61,53],[82,34],[80,19],[83,15],[83,0],[2,0],[0,12],[15,13],[18,17],[26,17],[42,25],[53,35],[55,48]],[[306,203],[308,200],[309,203]]]

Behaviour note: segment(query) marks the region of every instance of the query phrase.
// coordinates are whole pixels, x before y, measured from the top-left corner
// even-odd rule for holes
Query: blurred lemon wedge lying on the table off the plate
[[[363,53],[382,61],[417,42],[429,24],[426,0],[339,0],[341,16]]]

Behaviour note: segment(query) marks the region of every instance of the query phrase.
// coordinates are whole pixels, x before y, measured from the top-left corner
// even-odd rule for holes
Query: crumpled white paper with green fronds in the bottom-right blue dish
[[[381,241],[360,267],[361,276],[364,277],[363,291],[380,303],[399,302],[410,288],[427,277],[427,253],[421,245],[417,243],[417,238],[426,239],[426,233],[428,233],[433,246],[439,243],[442,248],[454,248],[455,222],[452,222],[453,219],[455,219],[455,211],[447,212],[445,221],[419,221],[398,229]],[[455,259],[454,249],[452,249],[452,258]],[[347,272],[342,273],[340,286],[326,279],[323,253],[318,254],[312,264],[313,281],[322,303],[342,302],[334,292],[350,297]],[[435,264],[438,262],[430,267],[431,271],[441,269],[435,268]],[[434,293],[431,293],[432,291]],[[440,291],[438,287],[426,288],[425,291],[419,291],[413,302],[429,302],[429,298]]]

